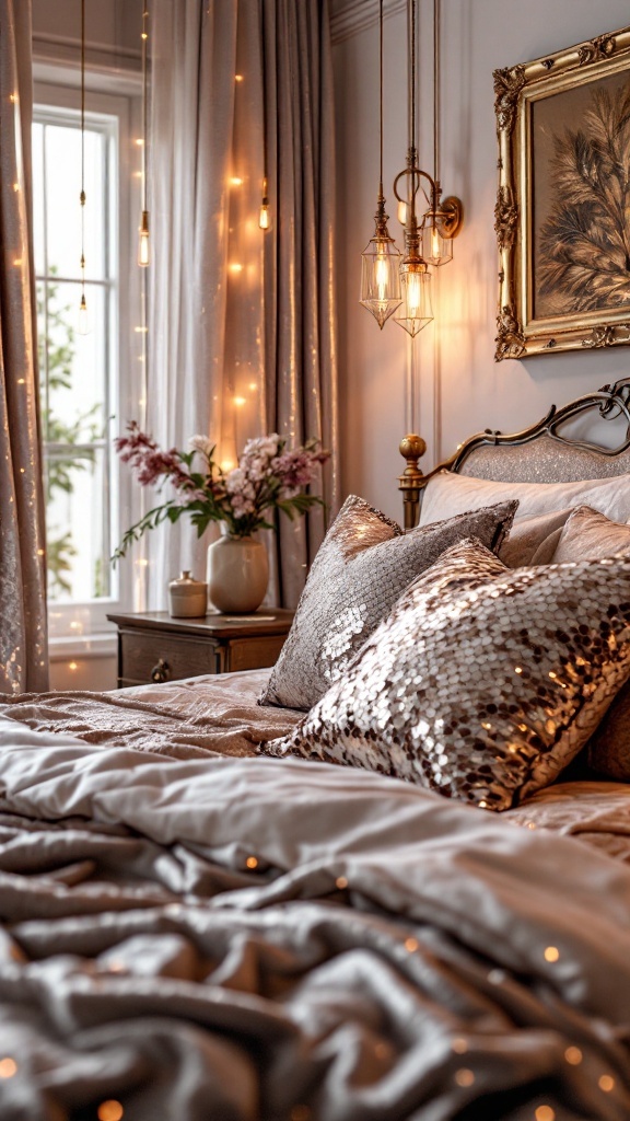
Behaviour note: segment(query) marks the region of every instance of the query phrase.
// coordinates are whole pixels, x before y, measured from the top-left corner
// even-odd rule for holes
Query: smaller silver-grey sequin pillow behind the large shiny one
[[[311,708],[416,576],[466,537],[474,535],[489,548],[499,548],[517,506],[500,502],[404,534],[351,494],[315,557],[259,703]]]

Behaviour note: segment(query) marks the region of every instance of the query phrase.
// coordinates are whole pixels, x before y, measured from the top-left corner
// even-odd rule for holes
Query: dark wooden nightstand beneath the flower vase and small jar
[[[108,615],[118,627],[118,687],[272,666],[294,612],[172,619],[167,611]]]

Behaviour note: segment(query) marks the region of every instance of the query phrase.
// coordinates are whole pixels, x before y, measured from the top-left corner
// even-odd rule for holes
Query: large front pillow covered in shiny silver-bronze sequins
[[[630,557],[513,571],[465,541],[265,751],[507,809],[577,754],[629,674]]]

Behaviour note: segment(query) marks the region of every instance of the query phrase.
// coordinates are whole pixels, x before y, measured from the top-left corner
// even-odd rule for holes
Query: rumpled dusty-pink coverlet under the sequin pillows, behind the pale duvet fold
[[[140,685],[114,693],[21,694],[0,703],[8,719],[57,738],[133,748],[173,759],[253,757],[262,740],[287,734],[304,717],[257,698],[271,669]],[[630,863],[630,788],[610,781],[554,784],[509,817],[527,828],[578,836]]]

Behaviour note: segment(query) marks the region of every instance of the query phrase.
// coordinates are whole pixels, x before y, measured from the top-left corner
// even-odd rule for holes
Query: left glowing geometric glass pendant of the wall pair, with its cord
[[[380,178],[377,212],[374,214],[374,233],[361,254],[361,299],[360,303],[374,316],[379,327],[400,304],[400,252],[390,237],[387,223],[389,215],[385,211],[382,188],[382,147],[383,147],[383,91],[382,91],[382,54],[383,54],[383,0],[379,3],[380,33]]]

